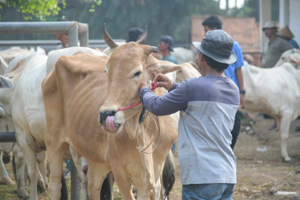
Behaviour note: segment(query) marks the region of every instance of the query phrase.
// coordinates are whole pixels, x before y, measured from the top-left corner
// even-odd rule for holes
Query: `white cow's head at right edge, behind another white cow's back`
[[[280,56],[279,60],[275,64],[275,67],[281,66],[285,62],[290,62],[294,65],[296,69],[300,69],[300,50],[299,49],[289,49]]]

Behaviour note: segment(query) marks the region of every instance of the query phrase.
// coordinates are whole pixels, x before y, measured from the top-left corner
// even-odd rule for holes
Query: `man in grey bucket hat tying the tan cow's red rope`
[[[180,111],[179,165],[182,199],[231,199],[236,163],[230,148],[239,91],[224,70],[236,61],[233,39],[222,30],[208,31],[199,50],[199,78],[178,84],[163,74],[155,77],[169,92],[161,97],[140,84],[143,106],[155,115]],[[155,105],[155,106],[153,106]]]

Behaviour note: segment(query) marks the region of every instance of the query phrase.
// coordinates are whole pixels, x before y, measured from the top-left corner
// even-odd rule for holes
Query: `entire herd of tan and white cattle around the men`
[[[105,26],[102,35],[109,46],[103,52],[88,47],[48,55],[18,47],[0,52],[0,132],[16,133],[16,143],[0,143],[0,151],[13,151],[16,191],[22,199],[37,200],[37,188],[44,192],[46,187],[50,199],[67,199],[63,160],[71,157],[82,199],[113,199],[113,180],[122,199],[135,199],[132,187],[140,200],[168,198],[174,184],[170,149],[179,115],[141,113],[141,104],[126,108],[140,101],[140,82],[151,80],[153,73],[168,74],[178,83],[201,76],[194,56],[185,58],[189,54],[184,49],[175,55],[180,65],[159,61],[151,55],[158,49],[142,44],[147,28],[137,42],[116,43]],[[251,118],[265,113],[276,119],[286,162],[291,160],[286,143],[289,126],[300,115],[299,63],[300,52],[292,49],[283,53],[276,67],[262,69],[247,62],[242,67],[244,111]],[[14,185],[2,159],[0,178],[1,184]]]

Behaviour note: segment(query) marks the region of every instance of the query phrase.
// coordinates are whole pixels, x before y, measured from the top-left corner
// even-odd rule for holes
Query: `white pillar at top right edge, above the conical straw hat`
[[[289,29],[294,34],[294,40],[300,45],[300,26],[299,26],[299,0],[289,0]]]

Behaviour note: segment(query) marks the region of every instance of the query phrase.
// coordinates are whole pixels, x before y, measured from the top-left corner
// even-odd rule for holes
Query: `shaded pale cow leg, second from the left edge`
[[[16,168],[17,194],[21,199],[28,199],[29,194],[26,191],[27,176],[25,175],[26,161],[23,153],[17,143],[13,146],[14,163]],[[27,171],[27,170],[26,170]],[[27,174],[27,173],[26,173]]]

